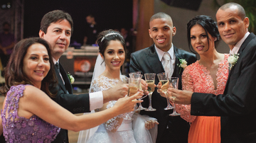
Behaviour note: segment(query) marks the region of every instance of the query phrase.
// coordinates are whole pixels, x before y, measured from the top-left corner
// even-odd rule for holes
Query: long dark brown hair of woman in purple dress
[[[18,84],[31,84],[31,81],[24,74],[23,71],[23,59],[28,51],[28,47],[31,45],[39,43],[46,47],[46,50],[49,55],[50,70],[48,74],[43,79],[41,84],[41,90],[44,91],[48,96],[53,97],[57,93],[55,87],[58,84],[57,78],[55,76],[55,69],[53,67],[53,57],[51,55],[50,45],[46,40],[42,38],[27,38],[19,41],[14,46],[14,52],[11,53],[11,57],[5,69],[5,85],[1,86],[0,93],[6,95],[10,90],[11,86],[16,86]],[[53,92],[50,92],[53,91]]]

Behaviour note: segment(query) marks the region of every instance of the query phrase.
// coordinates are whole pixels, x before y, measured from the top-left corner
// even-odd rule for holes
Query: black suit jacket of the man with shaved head
[[[256,36],[246,38],[223,94],[193,93],[191,115],[221,116],[221,142],[256,142]]]

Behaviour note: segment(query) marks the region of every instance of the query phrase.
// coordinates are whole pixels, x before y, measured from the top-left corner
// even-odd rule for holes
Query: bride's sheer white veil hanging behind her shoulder
[[[105,71],[106,67],[105,67],[105,62],[102,59],[102,57],[100,57],[100,54],[98,54],[96,62],[95,62],[95,69],[93,70],[93,74],[92,74],[92,81],[93,79],[97,78],[97,76],[100,76],[100,74],[102,74],[103,71]],[[90,86],[90,91],[91,91],[91,86]],[[92,110],[90,113],[95,113],[95,110]],[[90,114],[90,113],[84,113],[84,114]],[[79,136],[78,136],[78,143],[85,143],[87,141],[87,139],[89,139],[97,130],[97,127],[92,127],[88,130],[82,130],[79,132]]]

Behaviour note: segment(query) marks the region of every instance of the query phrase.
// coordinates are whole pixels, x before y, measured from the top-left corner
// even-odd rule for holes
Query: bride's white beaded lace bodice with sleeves
[[[127,83],[127,77],[120,75],[120,79],[123,83]],[[113,88],[114,86],[117,86],[117,83],[119,82],[119,79],[109,79],[106,76],[100,75],[96,79],[92,80],[92,84],[90,85],[90,93],[97,92],[97,91],[106,91],[110,88]],[[107,103],[107,108],[112,108],[114,106],[114,103],[117,101],[110,101]],[[131,113],[133,114],[133,113]],[[119,118],[124,118],[127,114],[118,115],[117,117],[114,117],[110,120],[107,120],[105,122],[106,129],[108,131],[112,131],[114,129],[117,129],[122,123],[128,123],[131,122],[129,120],[123,120],[122,123],[119,123]]]

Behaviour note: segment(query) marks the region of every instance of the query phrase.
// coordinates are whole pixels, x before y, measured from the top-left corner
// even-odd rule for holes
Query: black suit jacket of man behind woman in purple
[[[55,66],[54,66],[55,67]],[[58,73],[58,69],[55,67],[55,73],[58,78],[58,93],[55,98],[52,98],[53,101],[61,105],[63,108],[69,110],[71,113],[86,113],[90,112],[90,101],[89,94],[73,94],[73,88],[68,79],[68,74],[60,64],[60,74],[63,76],[63,80]],[[63,81],[65,84],[63,84]],[[68,117],[67,117],[68,118]],[[68,130],[60,130],[60,133],[57,135],[55,143],[68,142]]]

